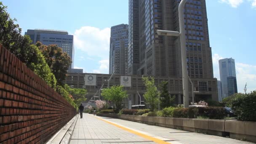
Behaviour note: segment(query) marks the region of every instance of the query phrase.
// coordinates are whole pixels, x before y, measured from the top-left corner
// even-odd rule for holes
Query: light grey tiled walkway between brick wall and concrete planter
[[[99,118],[165,140],[171,144],[253,144],[220,136],[163,128],[109,117],[97,117],[84,113],[82,119],[78,118],[70,144],[155,144],[152,140],[125,131]]]

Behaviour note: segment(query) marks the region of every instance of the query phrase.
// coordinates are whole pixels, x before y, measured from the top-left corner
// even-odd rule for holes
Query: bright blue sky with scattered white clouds
[[[1,0],[0,0],[1,1]],[[2,0],[27,29],[65,30],[74,35],[74,68],[108,73],[110,28],[128,24],[128,0]],[[256,0],[206,0],[214,77],[219,59],[235,59],[238,92],[256,90]]]

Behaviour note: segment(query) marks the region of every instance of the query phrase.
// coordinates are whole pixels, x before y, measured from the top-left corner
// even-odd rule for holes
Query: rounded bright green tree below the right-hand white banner
[[[104,99],[112,101],[115,104],[115,113],[122,109],[122,101],[128,96],[127,92],[123,90],[122,85],[114,85],[111,88],[104,88],[101,95]]]

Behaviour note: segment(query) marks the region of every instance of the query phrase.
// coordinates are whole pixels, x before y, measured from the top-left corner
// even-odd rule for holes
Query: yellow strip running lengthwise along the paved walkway
[[[94,117],[96,117],[96,116],[94,116]],[[158,144],[181,144],[181,143],[179,143],[179,142],[177,142],[177,141],[166,142],[166,141],[164,141],[164,140],[155,138],[155,137],[154,137],[155,135],[152,135],[152,134],[149,134],[149,133],[145,133],[145,132],[142,132],[142,131],[138,131],[138,130],[135,130],[135,129],[133,129],[133,128],[128,128],[128,127],[126,127],[126,126],[123,126],[123,125],[120,125],[120,124],[117,124],[117,123],[114,123],[114,122],[110,122],[109,120],[104,120],[104,119],[102,119],[102,118],[100,118],[100,117],[96,117],[96,118],[98,118],[99,120],[102,120],[102,121],[104,121],[104,122],[106,122],[106,123],[109,123],[109,124],[111,124],[111,125],[114,125],[114,126],[116,126],[116,127],[118,127],[118,128],[121,128],[121,129],[123,129],[123,130],[125,130],[125,131],[128,131],[128,132],[130,132],[130,133],[136,134],[136,135],[138,135],[138,136],[141,136],[141,137],[143,137],[143,138],[145,138],[145,139],[149,139],[149,140],[151,140],[151,141],[154,141],[154,142],[156,142],[156,143],[158,143]],[[151,135],[151,136],[150,136],[150,135]],[[158,137],[158,136],[157,136],[157,137]]]

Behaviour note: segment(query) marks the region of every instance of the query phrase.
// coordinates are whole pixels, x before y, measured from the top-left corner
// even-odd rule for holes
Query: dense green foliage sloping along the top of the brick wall
[[[41,77],[45,83],[56,89],[56,78],[51,73],[42,53],[35,45],[31,45],[30,37],[21,35],[16,19],[11,19],[6,6],[0,2],[0,43],[11,51],[20,61]]]

